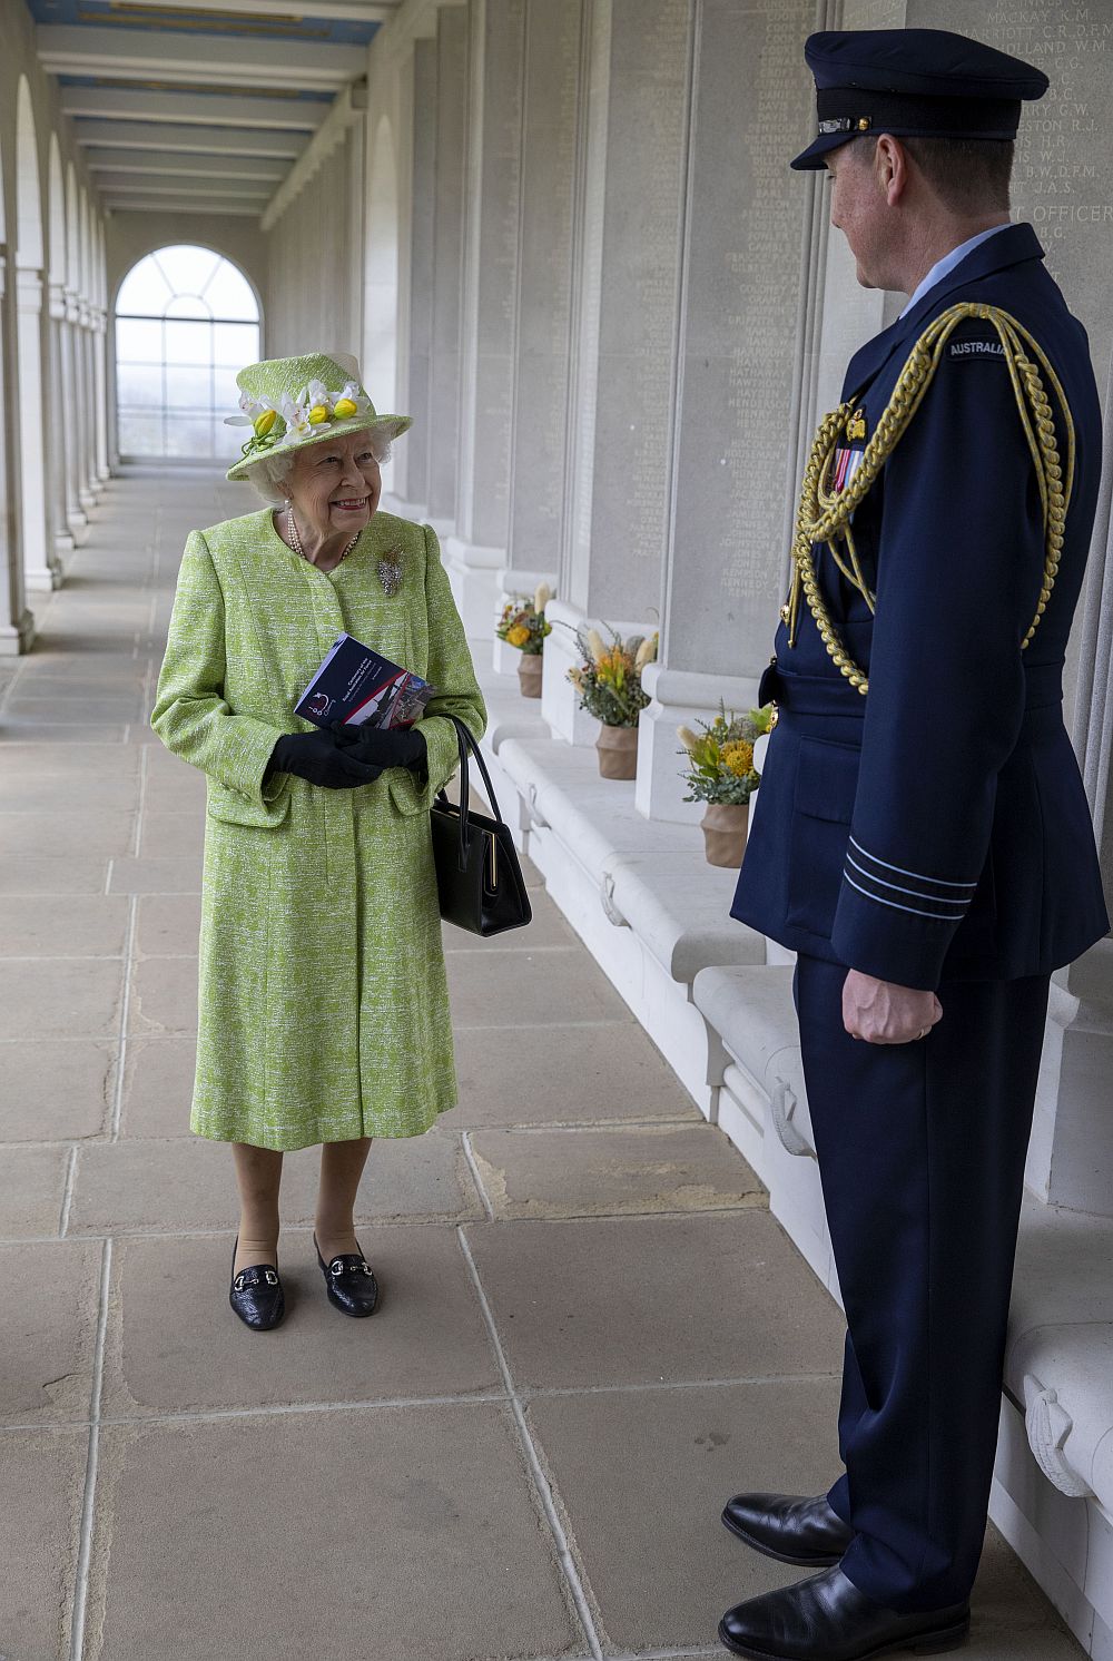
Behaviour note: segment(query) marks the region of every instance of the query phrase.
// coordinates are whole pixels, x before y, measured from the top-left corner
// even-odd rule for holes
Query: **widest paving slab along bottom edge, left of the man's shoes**
[[[503,1407],[106,1428],[93,1553],[86,1661],[583,1653]]]

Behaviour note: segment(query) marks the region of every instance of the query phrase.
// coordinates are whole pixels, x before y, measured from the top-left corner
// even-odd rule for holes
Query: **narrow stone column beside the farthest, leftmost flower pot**
[[[510,414],[522,198],[525,0],[472,0],[457,533],[449,578],[490,638],[510,540]]]

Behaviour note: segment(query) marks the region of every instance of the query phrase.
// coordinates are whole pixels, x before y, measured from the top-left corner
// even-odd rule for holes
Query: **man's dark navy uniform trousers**
[[[912,1613],[962,1603],[982,1553],[1048,977],[944,983],[929,1038],[870,1045],[842,1025],[846,975],[796,970],[847,1317],[829,1498],[847,1578]]]

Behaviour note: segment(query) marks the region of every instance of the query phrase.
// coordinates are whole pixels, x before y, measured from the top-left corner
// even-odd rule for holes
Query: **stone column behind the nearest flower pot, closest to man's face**
[[[638,754],[638,807],[655,819],[701,816],[683,801],[676,728],[756,701],[782,601],[814,189],[789,161],[812,125],[812,0],[694,5],[671,535]]]

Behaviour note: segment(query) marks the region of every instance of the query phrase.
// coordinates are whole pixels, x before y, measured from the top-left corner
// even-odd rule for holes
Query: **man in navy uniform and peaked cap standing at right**
[[[812,35],[831,221],[909,296],[816,437],[733,915],[797,952],[847,1316],[827,1495],[723,1520],[816,1570],[741,1656],[957,1648],[988,1503],[1052,970],[1106,933],[1063,658],[1100,473],[1086,336],[1008,216],[1047,78],[935,30]]]

